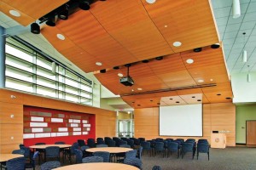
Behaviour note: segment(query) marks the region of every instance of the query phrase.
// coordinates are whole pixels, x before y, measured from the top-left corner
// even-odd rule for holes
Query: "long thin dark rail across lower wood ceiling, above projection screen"
[[[171,92],[176,90],[186,90],[186,89],[192,89],[192,88],[208,88],[208,87],[214,87],[214,86],[217,86],[217,84],[209,83],[209,84],[201,84],[201,85],[178,87],[178,88],[166,88],[166,89],[145,91],[145,92],[132,93],[132,94],[121,94],[120,96],[122,97],[122,96],[132,96],[132,95],[141,95],[141,94],[155,94],[155,93],[161,93],[161,92]]]

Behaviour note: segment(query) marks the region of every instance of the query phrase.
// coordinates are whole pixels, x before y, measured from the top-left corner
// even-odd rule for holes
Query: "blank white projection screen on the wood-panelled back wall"
[[[160,106],[160,136],[202,136],[202,105]]]

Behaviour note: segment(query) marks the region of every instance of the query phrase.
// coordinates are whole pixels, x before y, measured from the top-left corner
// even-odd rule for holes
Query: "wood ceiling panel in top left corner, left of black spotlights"
[[[51,1],[51,0],[2,0],[1,11],[12,19],[19,22],[22,26],[27,26],[38,20],[44,14],[48,14],[55,8],[67,3],[67,0]],[[14,17],[9,14],[9,10],[16,10],[20,12],[20,17]]]

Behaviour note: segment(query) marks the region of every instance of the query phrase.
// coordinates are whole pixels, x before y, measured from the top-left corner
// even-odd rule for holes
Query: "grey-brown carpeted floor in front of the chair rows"
[[[61,162],[62,163],[62,162]],[[68,161],[62,163],[68,165]],[[199,159],[192,160],[192,154],[187,153],[183,159],[177,159],[176,154],[164,157],[143,155],[143,170],[151,170],[159,165],[162,170],[256,170],[256,148],[228,147],[226,149],[210,149],[210,161],[207,154],[201,153]],[[37,170],[40,166],[37,166]]]

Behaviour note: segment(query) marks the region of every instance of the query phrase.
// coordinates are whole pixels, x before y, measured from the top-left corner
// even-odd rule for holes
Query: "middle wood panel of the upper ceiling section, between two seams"
[[[90,11],[106,31],[137,59],[173,54],[140,1],[108,1]]]

